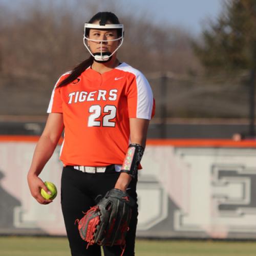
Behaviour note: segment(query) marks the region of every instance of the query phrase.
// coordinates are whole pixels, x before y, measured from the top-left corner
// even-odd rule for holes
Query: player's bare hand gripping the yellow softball
[[[40,204],[49,204],[52,202],[51,199],[47,200],[41,196],[41,188],[44,189],[47,193],[51,192],[46,187],[45,183],[35,174],[28,174],[28,184],[31,195],[36,199]]]

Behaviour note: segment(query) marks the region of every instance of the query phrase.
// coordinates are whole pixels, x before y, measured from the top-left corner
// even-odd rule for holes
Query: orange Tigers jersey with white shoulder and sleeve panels
[[[65,138],[60,152],[64,165],[122,164],[130,140],[129,118],[150,120],[153,94],[141,72],[121,63],[99,74],[85,70],[67,86],[52,92],[48,113],[62,113]]]

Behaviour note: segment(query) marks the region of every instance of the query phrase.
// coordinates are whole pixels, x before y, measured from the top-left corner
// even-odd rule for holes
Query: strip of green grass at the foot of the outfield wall
[[[66,238],[0,237],[1,256],[70,256]],[[137,240],[136,256],[255,256],[256,242]]]

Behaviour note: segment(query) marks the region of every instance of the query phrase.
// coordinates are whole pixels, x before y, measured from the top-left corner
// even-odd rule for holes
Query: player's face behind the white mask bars
[[[95,23],[98,24],[98,23]],[[118,38],[117,30],[103,30],[103,29],[90,29],[89,38],[92,40],[113,40]],[[102,41],[102,52],[114,52],[118,45],[120,44],[120,40],[116,41]],[[100,41],[88,41],[88,45],[92,51],[92,53],[100,52],[101,42]]]

